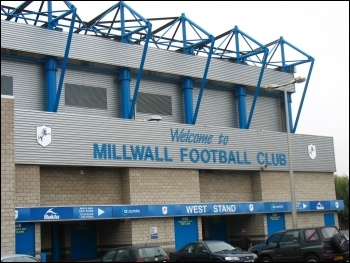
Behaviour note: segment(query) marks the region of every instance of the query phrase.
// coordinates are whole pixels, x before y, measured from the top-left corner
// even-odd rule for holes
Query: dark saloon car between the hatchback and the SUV
[[[169,253],[171,262],[255,262],[254,253],[243,251],[219,240],[190,242]]]

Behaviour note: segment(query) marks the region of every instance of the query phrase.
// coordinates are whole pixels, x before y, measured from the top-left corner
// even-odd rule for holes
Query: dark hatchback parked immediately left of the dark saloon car
[[[98,262],[170,262],[168,254],[159,246],[124,246],[113,248]]]

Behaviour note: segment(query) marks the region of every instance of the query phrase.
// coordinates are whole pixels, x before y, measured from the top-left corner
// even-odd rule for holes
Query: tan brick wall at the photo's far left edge
[[[1,255],[15,252],[14,98],[1,96]]]

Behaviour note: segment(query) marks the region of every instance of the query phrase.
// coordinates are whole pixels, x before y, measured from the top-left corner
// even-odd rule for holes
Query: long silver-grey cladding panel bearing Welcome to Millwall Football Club
[[[268,162],[270,170],[288,171],[285,133],[26,110],[15,110],[15,123],[17,164],[261,170]],[[42,125],[51,128],[46,147],[37,138]],[[178,141],[175,133],[182,129],[207,140]],[[295,171],[335,171],[333,138],[291,139]],[[315,159],[310,144],[317,148]],[[132,157],[137,147],[140,154]]]

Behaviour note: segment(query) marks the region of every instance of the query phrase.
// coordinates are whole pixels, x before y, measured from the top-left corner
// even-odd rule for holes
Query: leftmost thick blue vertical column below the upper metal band
[[[56,72],[57,60],[53,57],[48,57],[45,60],[46,72],[46,111],[53,112],[56,102]]]

